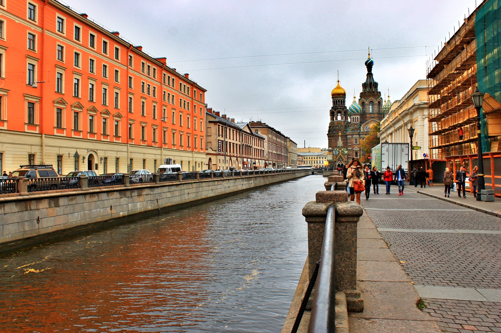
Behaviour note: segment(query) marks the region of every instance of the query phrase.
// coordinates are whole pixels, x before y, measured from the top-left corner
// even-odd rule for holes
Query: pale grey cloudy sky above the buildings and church
[[[260,119],[312,147],[327,147],[337,71],[349,105],[370,47],[380,91],[399,99],[475,7],[475,0],[65,1],[166,56],[208,90],[208,106],[237,121]]]

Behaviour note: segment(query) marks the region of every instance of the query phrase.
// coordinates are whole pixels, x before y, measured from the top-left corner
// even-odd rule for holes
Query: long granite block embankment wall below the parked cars
[[[302,170],[1,197],[0,251],[308,174]]]

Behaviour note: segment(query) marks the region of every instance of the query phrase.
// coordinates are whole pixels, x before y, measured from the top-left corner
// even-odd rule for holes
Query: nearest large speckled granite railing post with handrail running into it
[[[343,182],[332,181],[336,186],[338,183],[343,185]],[[331,204],[336,205],[336,289],[346,293],[348,311],[359,312],[364,308],[364,301],[357,290],[357,222],[363,209],[355,201],[348,202],[346,190],[319,191],[316,201],[310,201],[303,207],[303,215],[308,222],[309,276],[312,276],[320,259],[325,219]]]

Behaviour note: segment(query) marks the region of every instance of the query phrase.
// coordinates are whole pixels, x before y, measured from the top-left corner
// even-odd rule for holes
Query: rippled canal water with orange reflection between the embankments
[[[279,332],[310,175],[0,256],[2,332]]]

